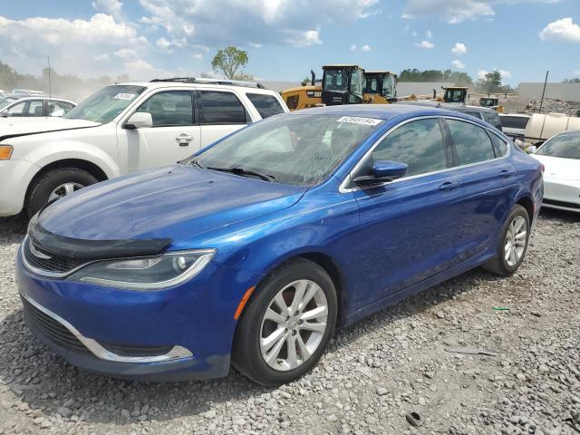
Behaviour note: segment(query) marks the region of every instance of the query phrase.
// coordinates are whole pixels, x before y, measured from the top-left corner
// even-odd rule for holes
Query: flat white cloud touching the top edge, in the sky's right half
[[[558,0],[407,0],[403,18],[439,16],[449,24],[457,24],[496,14],[493,5],[556,3]]]

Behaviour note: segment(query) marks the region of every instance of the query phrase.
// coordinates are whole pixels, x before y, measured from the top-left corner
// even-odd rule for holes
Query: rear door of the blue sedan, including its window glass
[[[517,189],[517,170],[506,158],[507,143],[493,131],[466,120],[447,118],[445,123],[462,190],[454,259],[459,263],[496,247]]]

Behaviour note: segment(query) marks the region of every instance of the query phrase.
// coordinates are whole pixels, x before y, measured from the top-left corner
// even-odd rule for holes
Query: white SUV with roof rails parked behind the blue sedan
[[[288,111],[259,83],[176,78],[103,88],[63,118],[0,128],[0,216],[28,216],[92,183],[183,160]]]

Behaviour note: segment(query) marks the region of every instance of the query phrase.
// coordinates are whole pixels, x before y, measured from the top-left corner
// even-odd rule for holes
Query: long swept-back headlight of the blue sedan
[[[196,249],[162,256],[96,261],[66,279],[132,290],[157,290],[198,275],[215,254],[215,249]]]

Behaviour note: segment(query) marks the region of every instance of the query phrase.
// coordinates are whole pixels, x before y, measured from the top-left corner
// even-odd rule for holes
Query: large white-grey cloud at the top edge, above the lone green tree
[[[322,43],[323,24],[376,14],[379,0],[140,0],[140,5],[146,11],[140,23],[164,28],[169,41],[185,38],[189,44],[242,47],[266,41],[304,47]]]

